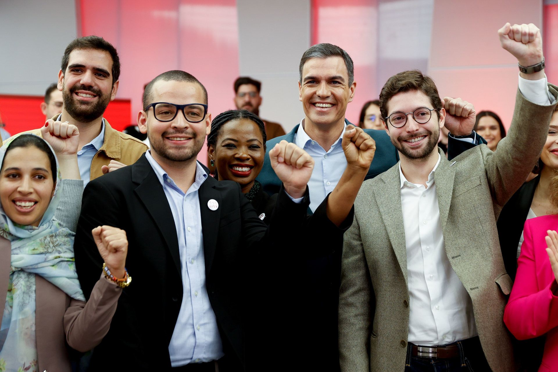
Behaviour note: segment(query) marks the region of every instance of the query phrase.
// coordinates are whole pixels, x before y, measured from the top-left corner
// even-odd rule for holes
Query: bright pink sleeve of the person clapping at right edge
[[[552,280],[541,288],[537,281],[537,264],[541,266],[543,263],[535,262],[535,250],[541,249],[541,245],[546,248],[546,242],[533,242],[530,221],[525,222],[525,241],[517,260],[516,280],[504,310],[504,323],[518,340],[541,336],[558,326],[558,297],[552,294],[556,281]],[[538,257],[539,261],[541,257]]]

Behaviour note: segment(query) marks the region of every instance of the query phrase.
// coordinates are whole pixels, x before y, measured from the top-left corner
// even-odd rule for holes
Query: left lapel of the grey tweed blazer
[[[401,183],[399,165],[379,175],[383,183],[374,185],[374,195],[386,226],[389,241],[397,257],[405,282],[407,283],[407,244],[403,226],[403,209],[401,208]]]

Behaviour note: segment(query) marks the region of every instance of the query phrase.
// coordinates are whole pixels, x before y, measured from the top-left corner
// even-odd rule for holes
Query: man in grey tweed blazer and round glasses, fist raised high
[[[343,371],[516,370],[502,321],[512,281],[496,218],[538,159],[558,91],[539,63],[535,25],[507,23],[498,33],[527,68],[494,153],[480,145],[446,160],[436,147],[440,128],[472,123],[474,107],[440,100],[420,71],[392,76],[382,89],[384,125],[401,160],[364,182],[345,233]]]

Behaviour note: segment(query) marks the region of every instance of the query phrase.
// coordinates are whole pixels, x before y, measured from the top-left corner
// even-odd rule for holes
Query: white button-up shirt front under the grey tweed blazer
[[[425,346],[477,336],[473,303],[444,247],[434,183],[439,164],[440,155],[427,188],[408,182],[399,166],[411,313],[408,341]]]

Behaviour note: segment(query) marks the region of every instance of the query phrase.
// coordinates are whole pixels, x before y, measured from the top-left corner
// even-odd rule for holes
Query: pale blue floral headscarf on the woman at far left
[[[9,145],[18,137],[9,139],[0,148],[0,167]],[[41,138],[41,141],[44,139]],[[54,154],[50,145],[45,143]],[[0,236],[11,242],[9,286],[0,326],[0,369],[2,366],[7,370],[22,368],[34,371],[38,368],[35,339],[36,275],[45,278],[68,296],[85,301],[75,271],[74,233],[54,218],[60,202],[58,190],[61,174],[58,160],[53,177],[56,179],[54,195],[39,226],[22,226],[13,222],[0,204]]]

